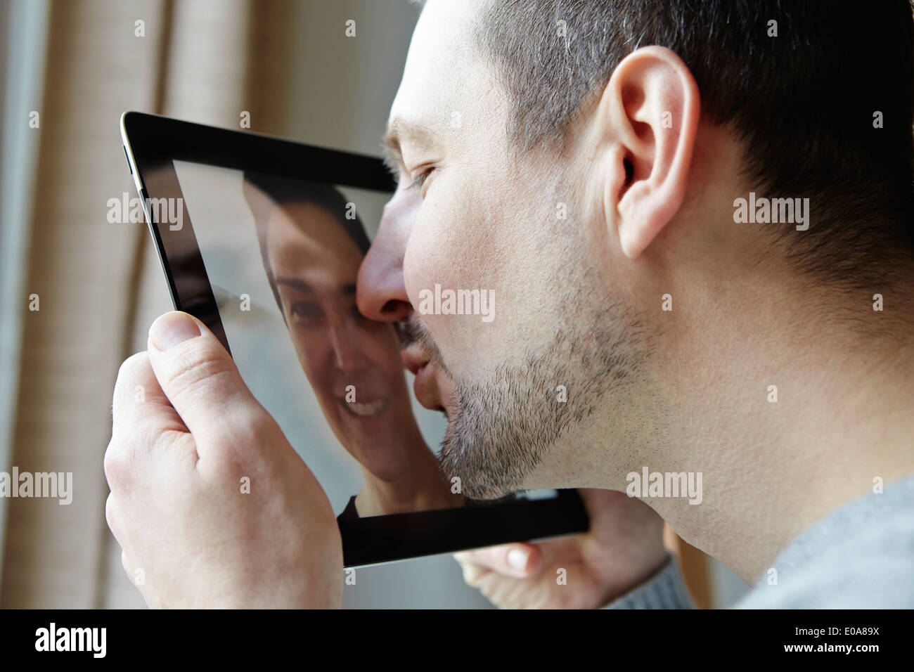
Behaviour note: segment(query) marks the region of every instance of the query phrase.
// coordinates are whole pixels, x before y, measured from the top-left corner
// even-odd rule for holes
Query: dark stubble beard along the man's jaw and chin
[[[595,275],[582,272],[578,286],[562,297],[545,347],[526,352],[522,364],[499,365],[483,380],[453,375],[418,317],[406,323],[407,338],[420,340],[452,379],[456,409],[439,462],[446,482],[460,479],[464,496],[493,499],[524,488],[544,455],[574,448],[563,440],[578,435],[608,395],[634,391],[647,354],[643,325],[622,304],[600,305]]]

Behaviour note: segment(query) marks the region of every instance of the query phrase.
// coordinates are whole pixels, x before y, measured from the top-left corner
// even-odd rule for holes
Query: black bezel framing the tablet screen
[[[175,310],[200,319],[227,349],[216,297],[209,286],[186,207],[184,226],[167,231],[164,229],[168,222],[155,221],[156,213],[146,207],[149,198],[181,198],[184,202],[173,161],[388,193],[396,188],[384,163],[373,156],[143,112],[124,112],[121,133]],[[344,520],[340,521],[340,532],[344,565],[356,567],[511,541],[547,539],[584,531],[588,525],[577,490],[559,490],[557,497],[546,499]]]

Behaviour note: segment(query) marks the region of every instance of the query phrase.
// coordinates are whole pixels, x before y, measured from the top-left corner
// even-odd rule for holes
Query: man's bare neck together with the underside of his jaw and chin
[[[866,293],[833,310],[834,297],[763,279],[686,284],[715,295],[664,323],[632,376],[648,382],[607,395],[525,487],[637,487],[685,541],[751,582],[805,528],[914,473],[914,328],[901,317],[914,304],[895,293],[882,315]],[[652,496],[645,468],[663,485],[685,475],[685,493]]]

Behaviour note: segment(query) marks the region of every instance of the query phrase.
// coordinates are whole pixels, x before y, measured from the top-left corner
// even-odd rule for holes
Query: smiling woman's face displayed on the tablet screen
[[[409,459],[412,411],[393,326],[356,307],[362,252],[332,213],[306,203],[272,209],[267,249],[298,359],[336,438],[372,474],[395,477]]]

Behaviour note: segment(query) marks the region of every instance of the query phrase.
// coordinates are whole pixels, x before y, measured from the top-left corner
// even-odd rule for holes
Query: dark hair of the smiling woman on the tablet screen
[[[255,173],[246,171],[244,181],[257,187],[270,197],[271,201],[277,206],[295,204],[309,204],[317,208],[322,208],[333,215],[339,225],[345,229],[364,256],[367,254],[371,241],[362,226],[362,220],[356,214],[352,219],[347,219],[346,214],[350,210],[349,204],[343,194],[335,187],[321,182],[312,182],[309,180],[299,179],[297,177],[275,176],[267,173]],[[280,296],[279,287],[276,285],[276,277],[270,263],[270,252],[267,249],[267,219],[254,211],[254,226],[257,229],[257,241],[260,244],[260,261],[263,262],[263,270],[267,273],[267,280],[270,282],[270,288],[273,291],[273,298],[276,299],[276,305],[280,308],[282,319],[285,320],[285,313],[282,311],[282,297]]]

